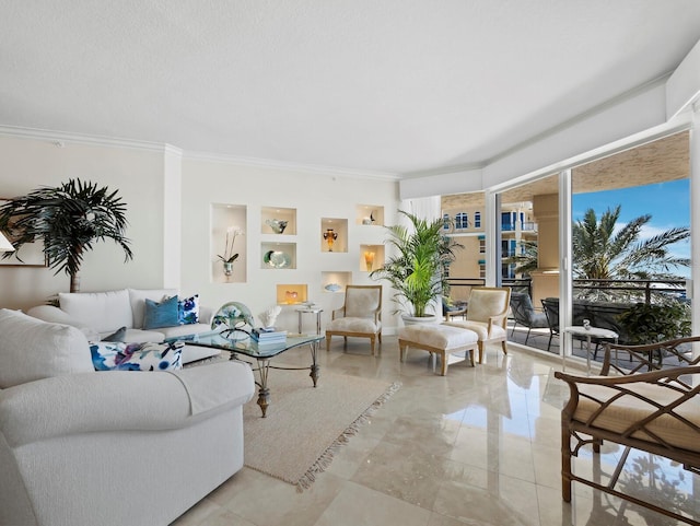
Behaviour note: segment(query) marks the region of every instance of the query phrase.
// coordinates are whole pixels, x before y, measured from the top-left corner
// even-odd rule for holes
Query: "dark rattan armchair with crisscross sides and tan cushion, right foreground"
[[[572,482],[576,481],[677,521],[700,525],[695,511],[691,516],[677,503],[658,505],[626,493],[618,484],[630,448],[668,458],[700,475],[700,356],[692,358],[690,349],[696,342],[700,342],[700,336],[649,346],[607,343],[603,376],[555,373],[569,385],[571,395],[561,413],[564,501],[571,501]],[[682,366],[666,369],[677,365],[676,360]],[[592,445],[597,454],[604,441],[625,447],[608,483],[574,474],[572,456],[578,456],[585,445]]]

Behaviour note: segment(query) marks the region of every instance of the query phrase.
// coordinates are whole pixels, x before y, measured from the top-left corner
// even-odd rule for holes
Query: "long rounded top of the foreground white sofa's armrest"
[[[245,404],[254,388],[249,366],[240,362],[215,362],[177,375],[115,371],[56,376],[0,390],[0,432],[19,446],[79,433],[185,428],[209,411]],[[192,411],[192,398],[208,401],[206,410]]]

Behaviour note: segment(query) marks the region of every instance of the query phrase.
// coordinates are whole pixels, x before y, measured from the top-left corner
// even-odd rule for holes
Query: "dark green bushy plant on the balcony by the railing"
[[[690,336],[689,306],[678,301],[637,303],[618,317],[630,343],[646,344]]]

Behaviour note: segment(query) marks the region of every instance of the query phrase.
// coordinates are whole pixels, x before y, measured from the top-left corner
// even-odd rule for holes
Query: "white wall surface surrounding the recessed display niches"
[[[211,239],[210,207],[224,203],[246,207],[246,234],[236,239],[236,249],[245,244],[246,282],[214,282],[211,279],[211,246],[223,252],[224,239]],[[238,301],[258,319],[259,313],[276,303],[278,284],[307,284],[308,297],[323,306],[323,323],[330,311],[342,306],[342,294],[323,290],[322,272],[351,271],[353,284],[372,284],[368,272],[359,269],[360,244],[382,244],[384,229],[357,225],[358,204],[383,204],[387,224],[393,224],[398,206],[398,184],[359,177],[304,173],[283,168],[242,166],[223,162],[188,160],[183,162],[183,267],[182,290],[199,292],[212,306]],[[264,207],[296,209],[296,235],[281,241],[296,243],[296,269],[261,268],[261,214]],[[348,252],[322,253],[322,218],[348,219]],[[234,264],[241,272],[242,261]],[[384,324],[396,326],[390,294],[385,287]],[[284,306],[277,325],[296,329],[296,313]],[[312,316],[304,317],[304,330],[313,328]],[[388,329],[390,331],[390,329]]]

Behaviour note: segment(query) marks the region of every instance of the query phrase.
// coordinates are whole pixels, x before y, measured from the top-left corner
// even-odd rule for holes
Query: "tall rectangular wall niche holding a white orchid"
[[[211,203],[209,214],[211,282],[245,283],[247,280],[245,204]]]

